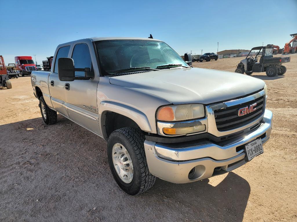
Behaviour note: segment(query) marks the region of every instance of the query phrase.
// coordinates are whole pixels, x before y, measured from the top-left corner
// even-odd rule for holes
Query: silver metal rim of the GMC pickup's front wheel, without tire
[[[112,148],[113,167],[119,178],[129,184],[133,179],[133,164],[129,152],[120,143],[116,143]]]

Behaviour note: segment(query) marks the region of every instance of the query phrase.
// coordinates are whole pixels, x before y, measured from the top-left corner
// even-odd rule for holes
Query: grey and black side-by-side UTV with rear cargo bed
[[[269,77],[283,75],[287,69],[282,63],[290,62],[290,57],[273,57],[272,54],[273,45],[252,48],[247,57],[237,65],[235,72],[251,75],[266,71]]]

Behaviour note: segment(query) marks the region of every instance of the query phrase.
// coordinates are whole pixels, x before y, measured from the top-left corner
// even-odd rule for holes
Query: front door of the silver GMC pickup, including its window
[[[91,71],[95,71],[93,79],[65,82],[69,84],[69,89],[65,90],[69,118],[98,134],[97,85],[99,73],[98,69],[94,70],[93,68],[97,66],[97,61],[92,41],[87,39],[75,42],[69,57],[73,59],[75,68],[90,68]],[[76,71],[75,76],[85,76],[85,73]]]

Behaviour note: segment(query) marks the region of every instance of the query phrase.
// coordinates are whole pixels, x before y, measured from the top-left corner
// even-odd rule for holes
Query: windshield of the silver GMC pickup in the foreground
[[[168,64],[189,67],[173,49],[161,41],[107,40],[95,44],[105,75],[132,67],[156,69]]]

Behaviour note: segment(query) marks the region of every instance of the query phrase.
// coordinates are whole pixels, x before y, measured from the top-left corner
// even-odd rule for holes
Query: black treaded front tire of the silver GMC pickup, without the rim
[[[146,162],[144,140],[143,133],[132,127],[113,131],[108,138],[107,155],[111,173],[119,187],[129,195],[137,195],[147,191],[156,181],[156,177],[149,172]],[[129,184],[121,180],[113,165],[112,149],[116,143],[122,144],[127,149],[132,160],[133,178]]]

